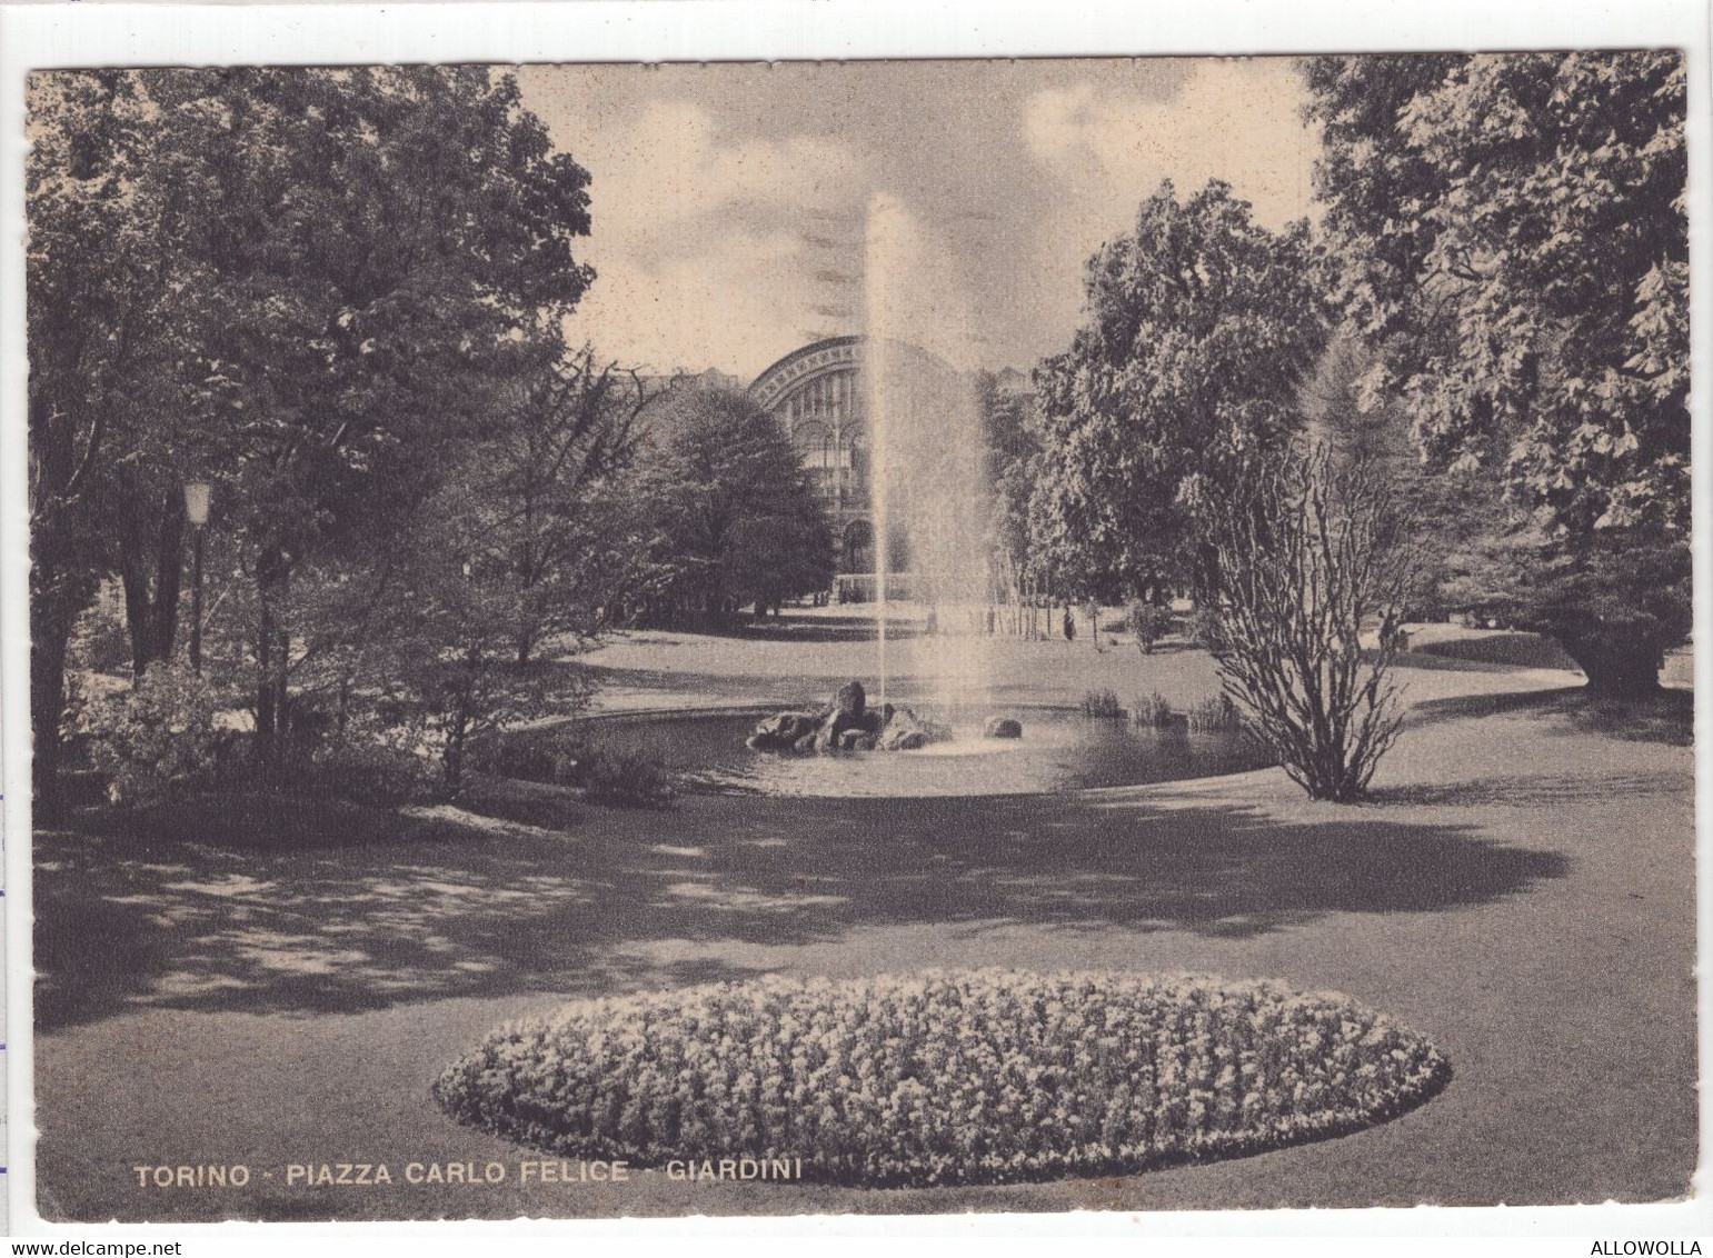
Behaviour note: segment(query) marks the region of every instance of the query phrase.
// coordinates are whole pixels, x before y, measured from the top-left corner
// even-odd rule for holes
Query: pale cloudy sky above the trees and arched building
[[[1288,58],[541,65],[524,104],[591,175],[569,330],[745,380],[891,312],[954,366],[1069,344],[1083,264],[1165,178],[1280,228],[1319,147]],[[884,277],[884,284],[877,284]],[[884,293],[884,300],[877,298]]]

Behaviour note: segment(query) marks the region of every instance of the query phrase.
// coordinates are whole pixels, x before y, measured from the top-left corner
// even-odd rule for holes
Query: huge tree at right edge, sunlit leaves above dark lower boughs
[[[1336,300],[1434,469],[1485,469],[1511,614],[1591,690],[1658,685],[1689,626],[1684,65],[1672,51],[1333,56]]]

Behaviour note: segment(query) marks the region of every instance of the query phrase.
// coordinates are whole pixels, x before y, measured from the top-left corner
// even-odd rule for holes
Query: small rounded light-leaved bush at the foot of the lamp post
[[[152,808],[180,796],[216,762],[214,690],[187,664],[156,662],[128,690],[87,697],[77,724],[108,799]]]

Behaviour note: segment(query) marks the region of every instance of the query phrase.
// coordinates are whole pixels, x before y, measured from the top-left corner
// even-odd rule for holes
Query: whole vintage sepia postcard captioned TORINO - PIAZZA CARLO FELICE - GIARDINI
[[[33,1208],[1691,1195],[1687,84],[29,74]]]

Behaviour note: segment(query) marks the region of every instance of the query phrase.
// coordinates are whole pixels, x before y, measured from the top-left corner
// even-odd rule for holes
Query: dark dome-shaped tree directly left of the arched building
[[[737,608],[778,604],[833,582],[833,529],[785,430],[745,392],[675,390],[649,490],[656,563],[668,573],[656,616],[723,626]]]

